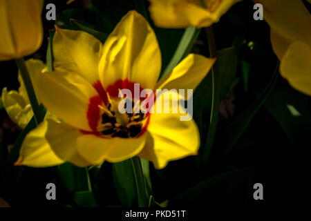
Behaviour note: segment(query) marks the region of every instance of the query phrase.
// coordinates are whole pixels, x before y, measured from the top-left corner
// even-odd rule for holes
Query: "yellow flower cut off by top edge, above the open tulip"
[[[197,28],[219,21],[229,8],[242,0],[150,0],[151,17],[162,28]],[[202,6],[204,5],[204,7]]]

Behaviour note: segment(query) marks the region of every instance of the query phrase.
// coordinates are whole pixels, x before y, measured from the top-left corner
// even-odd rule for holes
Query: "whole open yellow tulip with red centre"
[[[28,166],[47,166],[47,161],[64,160],[88,166],[139,155],[162,169],[171,160],[197,154],[200,139],[194,120],[180,121],[189,113],[122,114],[116,107],[124,98],[118,95],[120,89],[133,91],[135,83],[140,90],[195,89],[215,59],[188,55],[157,83],[158,41],[149,23],[135,11],[122,18],[104,45],[86,32],[57,28],[53,55],[55,71],[39,75],[37,92],[61,120],[47,119],[31,131],[17,164],[25,164],[26,159]],[[57,157],[46,157],[50,153]]]

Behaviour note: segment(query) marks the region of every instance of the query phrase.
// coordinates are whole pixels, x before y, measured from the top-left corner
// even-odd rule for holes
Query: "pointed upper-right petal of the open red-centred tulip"
[[[156,88],[195,90],[215,61],[202,55],[189,54],[169,75],[158,81]]]

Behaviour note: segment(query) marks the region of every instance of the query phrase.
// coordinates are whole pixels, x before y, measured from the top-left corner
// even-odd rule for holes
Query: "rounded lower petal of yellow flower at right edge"
[[[290,45],[281,61],[281,75],[296,90],[311,96],[311,47],[302,41]]]

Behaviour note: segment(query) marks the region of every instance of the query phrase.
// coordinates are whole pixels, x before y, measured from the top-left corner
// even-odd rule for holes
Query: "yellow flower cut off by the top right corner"
[[[311,15],[301,0],[256,0],[271,28],[271,42],[281,61],[281,75],[311,96]]]

